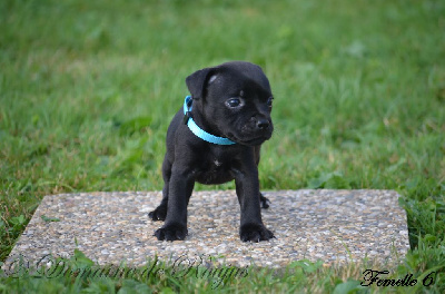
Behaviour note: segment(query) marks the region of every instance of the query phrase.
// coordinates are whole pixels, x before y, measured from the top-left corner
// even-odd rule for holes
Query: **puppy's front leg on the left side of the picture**
[[[187,205],[195,186],[195,179],[188,170],[175,167],[169,183],[167,217],[164,226],[155,232],[159,239],[185,239],[187,231]]]

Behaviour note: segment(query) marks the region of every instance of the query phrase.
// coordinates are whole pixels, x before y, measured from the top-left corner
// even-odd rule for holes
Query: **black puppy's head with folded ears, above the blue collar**
[[[186,79],[194,116],[208,133],[256,146],[271,137],[273,95],[259,66],[233,61],[205,68]]]

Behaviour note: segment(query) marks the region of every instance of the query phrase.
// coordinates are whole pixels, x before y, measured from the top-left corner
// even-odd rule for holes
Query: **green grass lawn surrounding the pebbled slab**
[[[444,16],[439,0],[1,1],[0,261],[44,195],[161,189],[185,78],[249,60],[276,98],[263,189],[397,189],[412,251],[392,276],[438,272],[434,285],[411,291],[439,293]],[[305,266],[255,270],[220,290],[333,292],[363,278],[358,265]],[[4,277],[0,292],[211,291],[206,281]]]

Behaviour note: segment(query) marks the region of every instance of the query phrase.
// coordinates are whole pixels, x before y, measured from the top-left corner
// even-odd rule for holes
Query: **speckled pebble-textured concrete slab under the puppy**
[[[3,268],[20,255],[32,263],[48,254],[69,257],[76,247],[101,265],[142,265],[155,255],[170,262],[219,255],[219,263],[227,265],[274,267],[303,258],[397,261],[408,248],[406,214],[395,192],[279,190],[265,196],[271,205],[261,209],[263,220],[276,238],[260,243],[239,239],[234,190],[195,192],[189,235],[174,243],[152,236],[162,223],[147,214],[159,204],[159,192],[46,196]]]

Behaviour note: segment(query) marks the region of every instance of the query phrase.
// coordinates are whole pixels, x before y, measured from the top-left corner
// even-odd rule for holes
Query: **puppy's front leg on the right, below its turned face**
[[[234,174],[238,202],[241,206],[239,237],[243,242],[273,238],[274,234],[265,227],[261,220],[258,168],[251,165],[244,170],[236,169]]]

